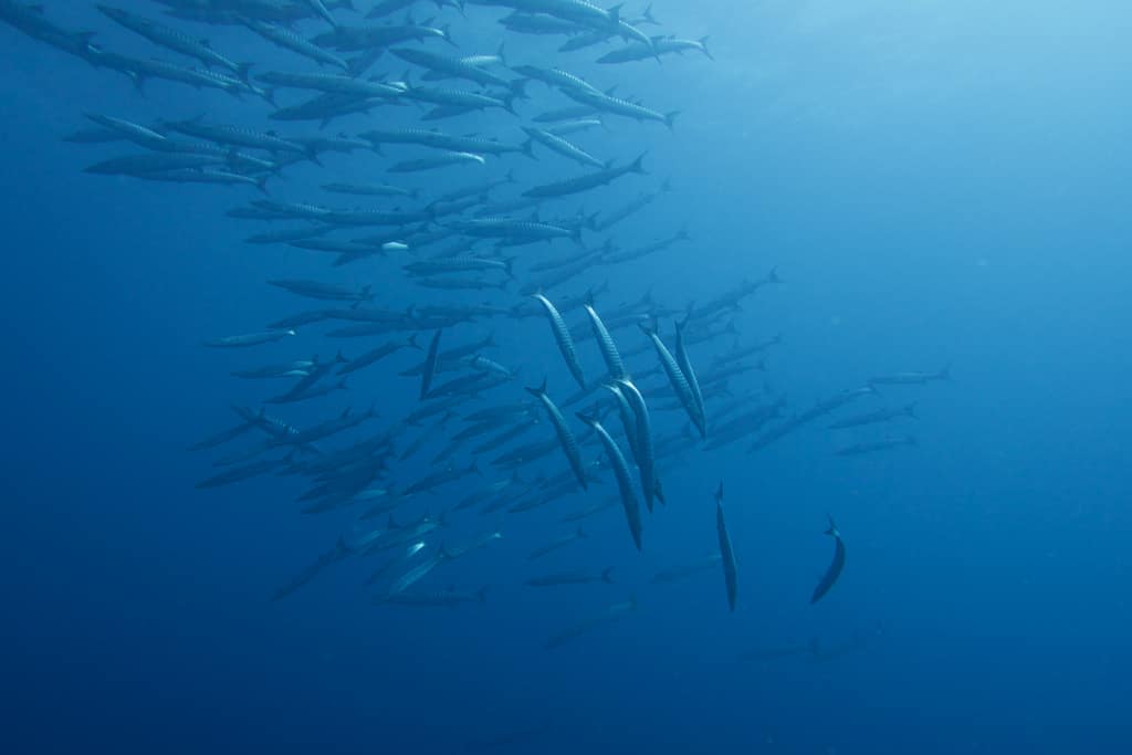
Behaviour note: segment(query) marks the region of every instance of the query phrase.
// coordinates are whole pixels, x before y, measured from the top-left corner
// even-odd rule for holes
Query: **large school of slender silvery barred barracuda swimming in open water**
[[[466,582],[474,572],[453,561],[472,560],[504,538],[509,517],[550,508],[546,540],[515,567],[533,573],[516,582],[532,589],[615,584],[604,564],[537,567],[586,539],[583,521],[627,531],[624,547],[644,550],[660,544],[650,541],[648,522],[666,508],[693,507],[710,517],[714,486],[700,500],[664,492],[666,475],[680,463],[695,464],[697,455],[737,444],[753,454],[823,419],[832,420],[831,430],[881,428],[881,435],[842,445],[842,456],[916,445],[910,435],[884,430],[915,419],[916,404],[831,415],[886,401],[889,392],[878,387],[946,380],[947,369],[882,375],[792,412],[786,396],[764,388],[766,354],[781,338],[745,338],[737,315],[745,300],[775,286],[774,269],[740,271],[743,281],[710,301],[664,304],[650,293],[650,258],[691,255],[695,231],[672,221],[679,204],[670,201],[668,181],[655,178],[662,168],[643,149],[609,154],[604,135],[660,129],[676,139],[680,111],[689,109],[680,118],[695,118],[694,102],[679,92],[670,94],[684,94],[684,102],[637,101],[619,91],[618,71],[651,65],[663,76],[667,66],[657,61],[712,58],[706,38],[660,33],[651,6],[632,12],[584,0],[126,5],[97,5],[108,28],[94,33],[53,23],[52,3],[0,0],[0,18],[108,76],[126,77],[139,101],[157,86],[180,87],[187,97],[218,89],[261,113],[263,125],[237,126],[223,113],[76,114],[68,140],[112,151],[86,171],[237,187],[248,198],[228,214],[256,226],[249,244],[325,259],[326,275],[317,280],[269,272],[266,284],[293,297],[292,311],[203,338],[205,348],[239,352],[232,375],[264,391],[259,406],[232,406],[229,427],[191,446],[238,448],[216,458],[198,487],[286,475],[302,481],[305,514],[351,517],[337,542],[275,599],[350,560],[376,604],[482,602],[484,585],[428,585],[451,584],[454,575]],[[415,20],[422,16],[430,17]],[[461,28],[473,17],[495,22],[492,44],[466,46]],[[203,27],[221,25],[242,29],[247,44],[224,50],[201,38]],[[109,29],[144,37],[153,57],[114,52],[102,42],[113,38]],[[513,60],[508,41],[521,35],[537,41],[542,54]],[[290,65],[248,62],[247,51],[261,45],[285,51]],[[334,153],[368,161],[372,180],[335,177]],[[321,180],[290,180],[288,169],[297,163],[318,166]],[[516,178],[530,175],[524,169],[531,164],[540,178]],[[618,234],[623,221],[654,205],[667,209],[648,224],[655,229],[651,237]],[[367,285],[336,282],[343,271],[357,280],[359,269],[377,271],[367,267],[375,264],[381,272]],[[612,266],[635,266],[640,290],[609,291],[602,277]],[[393,272],[419,286],[420,303],[386,303],[381,276]],[[496,344],[497,334],[540,319],[557,364],[546,376],[524,363],[530,354]],[[289,344],[300,333],[319,338],[319,353],[294,353]],[[720,342],[728,345],[720,349]],[[715,357],[697,359],[709,343],[717,344]],[[257,360],[265,350],[290,354]],[[383,369],[410,381],[419,401],[349,407],[362,370]],[[325,406],[324,419],[292,424],[288,410],[300,402]],[[427,454],[434,454],[429,471],[410,475],[410,460],[419,470]],[[732,547],[722,483],[714,500],[719,540],[704,544],[710,555],[672,564],[652,582],[721,570],[735,610],[741,592],[736,547],[743,543]],[[484,515],[501,524],[484,531]],[[846,563],[832,518],[825,533],[835,550],[812,602],[830,592]],[[546,646],[626,616],[636,599],[598,604],[603,608],[575,618]]]

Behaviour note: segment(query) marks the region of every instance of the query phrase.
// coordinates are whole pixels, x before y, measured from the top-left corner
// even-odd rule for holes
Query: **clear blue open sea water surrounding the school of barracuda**
[[[52,22],[96,29],[108,48],[174,59],[94,3],[44,5]],[[120,5],[160,14],[142,0]],[[231,370],[329,355],[340,344],[320,327],[241,352],[200,341],[317,307],[268,277],[372,283],[379,304],[400,308],[509,306],[518,294],[444,295],[409,283],[404,259],[331,269],[319,252],[245,244],[260,226],[224,212],[254,198],[246,187],[83,173],[134,152],[61,141],[87,126],[84,112],[139,122],[206,113],[266,128],[269,108],[164,81],[142,97],[120,75],[0,28],[5,752],[1129,752],[1132,12],[1089,0],[653,5],[661,33],[711,35],[715,61],[685,53],[607,68],[590,52],[554,53],[559,37],[507,35],[512,59],[561,65],[683,110],[674,134],[610,119],[608,132],[575,137],[603,156],[648,149],[650,175],[563,207],[616,206],[670,178],[670,194],[610,233],[634,246],[686,226],[693,242],[588,272],[561,293],[608,278],[599,309],[648,290],[683,309],[777,266],[782,283],[734,319],[743,343],[781,333],[783,345],[765,374],[732,379],[732,391],[765,381],[803,411],[875,375],[950,364],[953,380],[885,388],[841,412],[918,402],[920,419],[892,428],[835,432],[822,420],[749,455],[748,441],[711,453],[689,441],[681,464],[661,466],[669,503],[646,515],[640,555],[612,508],[586,520],[588,540],[526,559],[573,526],[563,514],[616,490],[608,469],[589,496],[543,509],[455,514],[443,539],[495,526],[504,538],[422,582],[489,587],[483,606],[451,609],[371,606],[362,582],[380,560],[359,558],[269,600],[350,531],[357,512],[300,514],[305,481],[292,477],[196,490],[224,451],[185,448],[230,426],[230,404],[276,392]],[[462,51],[490,52],[503,12],[440,17]],[[257,69],[314,70],[238,28],[179,28]],[[402,68],[385,59],[375,70]],[[565,104],[541,85],[531,93],[524,122]],[[414,112],[400,109],[388,123],[409,125]],[[377,113],[327,131],[388,125]],[[488,113],[441,126],[515,131],[514,120]],[[317,183],[385,178],[376,155],[325,163],[289,169],[275,198],[329,203]],[[487,172],[506,168],[524,185],[578,172],[549,155],[501,157]],[[480,178],[469,170],[409,182],[438,194]],[[520,255],[566,250],[556,242]],[[500,348],[491,357],[523,371],[479,405],[520,401],[543,376],[554,395],[573,393],[541,319],[461,325],[445,338],[492,329]],[[661,332],[671,343],[671,318]],[[618,334],[625,348],[641,337]],[[729,345],[692,346],[692,357],[706,366]],[[597,375],[592,342],[580,349]],[[418,358],[395,354],[358,372],[349,394],[276,413],[308,426],[375,402],[381,418],[367,430],[392,426],[415,405],[419,384],[396,374]],[[631,362],[644,369],[654,357]],[[672,430],[678,417],[658,423]],[[834,455],[906,431],[916,447]],[[543,424],[523,441],[534,432],[549,437]],[[439,448],[395,464],[391,479],[423,475]],[[566,469],[557,454],[537,466]],[[650,584],[660,569],[717,551],[720,479],[739,558],[734,615],[719,569]],[[478,482],[409,501],[397,516],[438,513]],[[832,556],[827,513],[848,564],[809,606]],[[615,585],[523,585],[604,566]],[[631,595],[640,603],[631,616],[543,649]],[[813,638],[848,650],[767,657]]]

